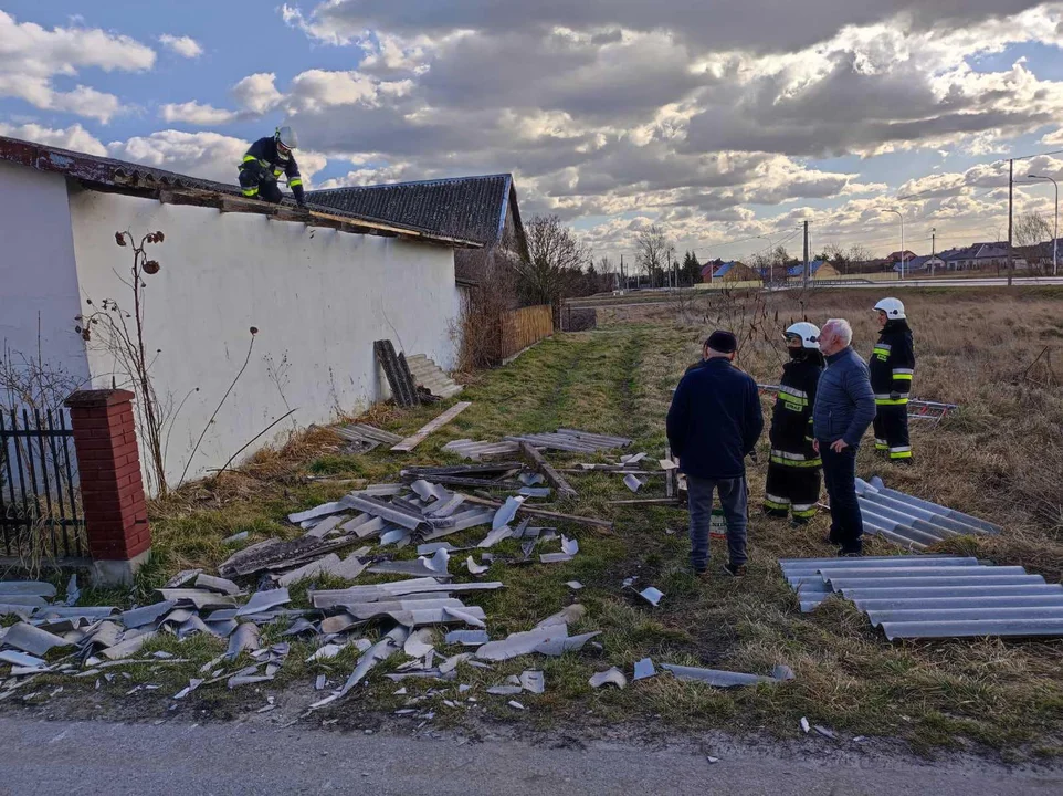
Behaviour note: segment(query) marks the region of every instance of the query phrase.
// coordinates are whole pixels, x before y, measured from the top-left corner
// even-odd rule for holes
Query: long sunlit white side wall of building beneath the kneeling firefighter
[[[137,239],[161,230],[150,245],[161,264],[145,276],[146,338],[161,349],[151,373],[160,401],[176,410],[166,451],[167,480],[176,485],[212,412],[242,366],[248,368],[194,458],[188,478],[222,467],[290,408],[277,432],[324,422],[387,395],[372,342],[428,354],[452,367],[455,343],[453,251],[394,238],[356,235],[251,213],[161,205],[155,200],[83,191],[71,196],[77,275],[84,297],[131,305],[115,270],[129,273],[131,250],[115,232]],[[88,346],[94,383],[109,386],[112,357]],[[143,444],[141,444],[143,449]],[[146,473],[147,474],[147,473]]]

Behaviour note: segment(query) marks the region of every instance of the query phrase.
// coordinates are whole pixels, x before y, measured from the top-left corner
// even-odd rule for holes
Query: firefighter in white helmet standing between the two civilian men
[[[812,407],[823,373],[820,331],[796,323],[786,331],[790,362],[782,366],[779,395],[771,413],[771,459],[765,484],[764,510],[772,516],[791,514],[794,523],[815,516],[823,461],[812,448]]]

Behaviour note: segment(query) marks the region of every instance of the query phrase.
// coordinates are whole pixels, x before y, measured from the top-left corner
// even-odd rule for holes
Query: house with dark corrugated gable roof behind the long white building
[[[475,284],[503,261],[530,260],[513,175],[485,175],[307,191],[315,205],[480,243],[455,252],[459,284]]]

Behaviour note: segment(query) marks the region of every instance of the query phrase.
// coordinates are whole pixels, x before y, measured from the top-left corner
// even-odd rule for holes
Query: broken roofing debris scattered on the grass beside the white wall
[[[449,417],[456,413],[451,412]],[[436,418],[440,422],[434,428],[445,418],[446,412]],[[422,429],[421,439],[431,430]],[[345,427],[340,436],[401,447],[391,441],[397,436],[364,423]],[[588,452],[629,444],[630,440],[623,438],[559,429],[546,439],[533,434],[506,442],[506,452],[523,453],[524,462],[407,467],[400,483],[365,485],[361,481],[360,489],[339,500],[292,512],[287,519],[303,531],[301,536],[291,541],[265,540],[238,549],[219,565],[217,574],[202,569],[181,572],[157,590],[160,599],[126,611],[108,607],[77,608],[76,582],[65,595],[65,601],[72,604],[70,607],[62,603],[49,604],[56,594],[51,584],[0,583],[0,606],[17,608],[14,614],[20,618],[0,639],[0,661],[12,666],[10,675],[0,685],[0,699],[45,671],[109,683],[122,680],[115,681],[105,673],[108,667],[188,662],[171,653],[141,651],[148,642],[167,635],[183,640],[208,633],[223,639],[227,646],[222,654],[202,667],[197,677],[173,694],[173,700],[187,700],[201,689],[269,683],[285,666],[290,652],[287,643],[265,641],[271,638],[265,635],[269,626],[275,622],[285,625],[272,638],[301,637],[316,641],[315,651],[304,656],[305,662],[301,661],[313,669],[311,682],[320,692],[308,705],[312,710],[343,699],[372,677],[372,670],[381,661],[392,657],[403,661],[388,673],[389,679],[453,681],[462,667],[491,669],[496,661],[517,657],[578,652],[600,635],[593,629],[570,633],[570,627],[585,626],[588,620],[582,605],[567,606],[528,630],[492,640],[490,617],[474,603],[478,594],[503,588],[504,584],[497,580],[457,583],[455,574],[450,572],[450,559],[459,549],[484,551],[511,538],[522,541],[523,558],[484,552],[478,557],[465,558],[465,566],[460,569],[482,576],[495,561],[528,563],[538,544],[558,538],[560,553],[546,553],[543,561],[572,559],[579,553],[577,538],[559,534],[555,527],[533,527],[534,517],[590,525],[606,532],[611,523],[535,507],[529,499],[555,492],[558,496],[576,493],[539,451],[565,451],[575,447],[579,452]],[[622,467],[628,468],[642,458],[625,457]],[[455,491],[455,486],[488,494],[497,490],[504,494],[497,501],[487,500]],[[477,527],[481,537],[463,538],[463,547],[438,541]],[[248,534],[241,532],[225,543],[239,544],[246,538]],[[367,546],[372,543],[377,552]],[[394,545],[396,553],[379,552],[389,544]],[[417,557],[400,558],[403,547],[415,548]],[[313,607],[306,610],[290,607],[290,586],[323,576],[355,580],[366,572],[406,577],[343,589],[311,586],[306,595]],[[575,580],[567,585],[571,589],[582,588],[582,584]],[[453,629],[444,635],[433,629],[436,626]],[[376,642],[364,637],[376,629],[380,632]],[[50,664],[48,658],[54,658],[51,651],[59,647],[73,649],[74,654],[62,659],[62,663]],[[349,648],[359,650],[358,660],[346,678],[340,677],[337,685],[330,685],[328,680],[333,675],[322,672],[320,668],[330,667],[326,671],[334,671],[335,661]],[[609,682],[622,687],[615,675],[610,678]],[[620,678],[625,684],[627,678],[622,673]],[[137,692],[145,688],[139,687]],[[470,688],[463,687],[461,693]],[[511,696],[541,694],[546,691],[546,679],[541,670],[529,668],[519,678],[490,691]],[[467,702],[474,701],[474,696],[467,698]],[[460,700],[465,702],[466,698]],[[524,704],[512,704],[526,710]],[[272,706],[274,703],[270,702],[267,708]],[[420,709],[415,712],[419,719],[431,714]]]

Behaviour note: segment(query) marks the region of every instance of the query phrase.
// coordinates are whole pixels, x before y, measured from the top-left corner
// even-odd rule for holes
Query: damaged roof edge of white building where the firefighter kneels
[[[307,224],[331,227],[357,234],[401,237],[443,243],[459,248],[480,248],[478,240],[460,234],[448,234],[432,228],[398,220],[382,219],[371,213],[322,207],[314,199],[304,210],[285,197],[281,205],[246,199],[235,185],[189,177],[165,169],[116,160],[85,153],[0,136],[0,161],[27,166],[39,171],[64,175],[90,190],[158,199],[177,205],[215,207],[235,212],[255,212],[278,220],[302,221]],[[235,171],[235,166],[233,166]],[[308,192],[313,197],[314,191]]]

